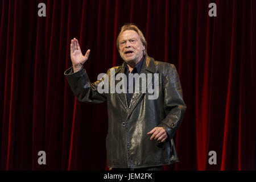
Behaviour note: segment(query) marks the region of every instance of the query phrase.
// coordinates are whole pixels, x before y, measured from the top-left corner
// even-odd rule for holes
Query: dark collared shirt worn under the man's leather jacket
[[[142,59],[139,61],[139,63],[136,65],[136,67],[133,68],[133,71],[131,71],[131,73],[140,73],[141,72],[141,67],[143,64],[143,60],[144,60],[144,56],[142,57]],[[133,93],[129,93],[129,68],[127,66],[127,63],[125,62],[125,75],[127,78],[127,93],[126,93],[126,98],[127,98],[127,104],[128,106],[130,106],[130,102],[131,102],[131,97],[133,97]],[[133,88],[135,86],[135,78],[133,78]]]

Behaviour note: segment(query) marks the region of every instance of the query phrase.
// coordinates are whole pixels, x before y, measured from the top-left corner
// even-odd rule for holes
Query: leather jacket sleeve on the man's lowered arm
[[[166,118],[158,126],[163,127],[171,139],[180,126],[187,108],[183,101],[179,75],[173,64],[171,64],[166,77],[163,79],[163,92]]]

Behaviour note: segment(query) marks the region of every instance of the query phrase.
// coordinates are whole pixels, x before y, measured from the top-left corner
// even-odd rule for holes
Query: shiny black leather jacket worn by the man
[[[111,69],[115,69],[115,75],[125,71],[124,65]],[[145,56],[141,73],[159,73],[159,97],[148,100],[148,93],[134,93],[130,106],[127,106],[126,93],[97,92],[97,85],[104,78],[91,83],[85,69],[73,73],[69,68],[64,73],[77,100],[108,102],[108,167],[141,168],[179,162],[172,139],[186,110],[179,75],[174,65],[149,56]],[[151,135],[147,133],[156,126],[167,131],[166,142],[150,140]]]

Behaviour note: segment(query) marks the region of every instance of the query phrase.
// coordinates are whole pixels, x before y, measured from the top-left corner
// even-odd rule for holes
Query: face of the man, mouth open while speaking
[[[119,53],[127,64],[137,64],[142,59],[144,49],[134,30],[126,30],[119,36]]]

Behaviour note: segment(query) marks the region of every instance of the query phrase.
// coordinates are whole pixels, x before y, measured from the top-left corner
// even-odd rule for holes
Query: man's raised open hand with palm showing
[[[85,55],[82,55],[79,42],[76,38],[71,40],[70,44],[70,56],[73,64],[74,73],[79,71],[82,68],[82,65],[88,60],[90,54],[90,49],[88,49]]]

